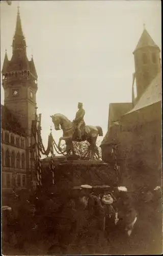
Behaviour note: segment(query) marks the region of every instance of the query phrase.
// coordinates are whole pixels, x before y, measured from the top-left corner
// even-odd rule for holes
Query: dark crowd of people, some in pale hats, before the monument
[[[153,191],[159,194],[159,190]],[[68,250],[71,254],[107,254],[113,242],[122,237],[127,241],[139,222],[126,187],[94,191],[92,186],[82,185],[73,193],[38,187],[33,193],[23,190],[13,197],[13,206],[2,207],[3,247],[10,244],[23,254],[26,244],[41,242],[43,254],[67,254]]]

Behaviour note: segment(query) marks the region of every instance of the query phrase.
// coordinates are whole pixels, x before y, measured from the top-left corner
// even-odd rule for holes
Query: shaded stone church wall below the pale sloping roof
[[[161,120],[137,125],[132,131],[120,129],[116,140],[123,184],[131,190],[161,185]],[[103,160],[113,161],[111,150],[111,145],[102,146]]]

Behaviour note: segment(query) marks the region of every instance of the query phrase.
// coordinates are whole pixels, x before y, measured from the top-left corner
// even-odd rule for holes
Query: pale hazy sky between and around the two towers
[[[12,1],[11,6],[2,1],[1,67],[5,49],[9,59],[12,55],[18,3],[27,54],[29,59],[33,54],[38,74],[44,145],[50,125],[57,142],[62,136],[50,115],[73,120],[78,102],[86,124],[101,126],[105,135],[109,104],[131,101],[132,52],[143,24],[161,49],[161,1]]]

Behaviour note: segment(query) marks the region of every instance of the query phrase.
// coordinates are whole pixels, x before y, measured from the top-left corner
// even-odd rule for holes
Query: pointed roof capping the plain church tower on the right
[[[141,49],[141,48],[144,48],[144,47],[155,47],[155,48],[159,49],[159,47],[155,44],[152,37],[149,35],[149,33],[147,32],[147,30],[145,28],[143,30],[141,38],[139,39],[138,45],[135,48],[135,50],[133,51],[133,53],[135,51],[137,51],[138,49]]]

